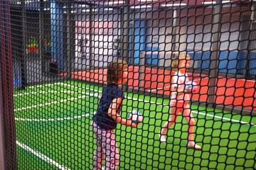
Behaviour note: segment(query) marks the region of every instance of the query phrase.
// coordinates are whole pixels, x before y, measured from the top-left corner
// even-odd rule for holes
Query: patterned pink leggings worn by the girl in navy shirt
[[[102,163],[105,157],[105,169],[117,169],[119,152],[113,130],[101,129],[92,121],[92,131],[97,143],[97,149],[93,156],[93,169],[102,170]]]

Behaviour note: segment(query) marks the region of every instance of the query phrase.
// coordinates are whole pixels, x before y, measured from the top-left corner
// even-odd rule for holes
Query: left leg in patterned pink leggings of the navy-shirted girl
[[[97,127],[97,124],[92,121],[92,131],[95,135],[95,140],[97,144],[97,149],[95,149],[95,154],[93,156],[93,169],[101,169],[102,162],[105,159],[105,140],[106,132],[101,128]]]

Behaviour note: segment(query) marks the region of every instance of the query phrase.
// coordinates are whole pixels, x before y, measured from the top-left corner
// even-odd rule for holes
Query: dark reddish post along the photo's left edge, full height
[[[11,9],[9,1],[0,1],[0,128],[4,130],[4,146],[1,142],[1,157],[6,161],[4,168],[17,169],[16,129],[14,120],[14,77],[11,50]],[[4,123],[3,119],[4,118]],[[4,126],[4,129],[2,128]],[[3,140],[3,133],[0,138]],[[4,153],[3,153],[4,152]]]

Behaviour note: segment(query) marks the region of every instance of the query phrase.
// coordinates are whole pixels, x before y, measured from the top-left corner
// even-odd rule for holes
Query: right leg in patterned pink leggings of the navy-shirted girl
[[[113,130],[107,131],[105,169],[117,169],[119,164],[119,152]]]

